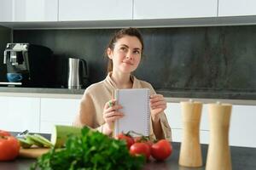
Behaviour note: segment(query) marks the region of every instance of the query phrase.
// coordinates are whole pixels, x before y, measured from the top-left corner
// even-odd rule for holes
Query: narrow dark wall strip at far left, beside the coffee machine
[[[6,65],[3,65],[3,51],[11,41],[11,29],[0,26],[0,82],[7,82]]]

